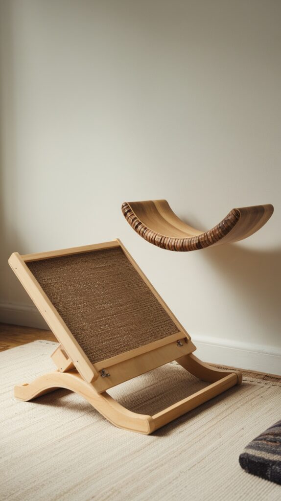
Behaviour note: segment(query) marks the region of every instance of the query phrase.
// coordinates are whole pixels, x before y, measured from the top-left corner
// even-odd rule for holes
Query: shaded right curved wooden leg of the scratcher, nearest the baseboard
[[[208,383],[219,381],[219,379],[222,379],[229,374],[237,375],[237,384],[242,382],[242,373],[240,371],[233,372],[216,369],[215,367],[211,367],[205,362],[199,360],[199,358],[195,357],[193,353],[178,358],[176,362],[190,372],[190,374],[193,374],[193,376],[202,379],[202,381],[207,381]]]

